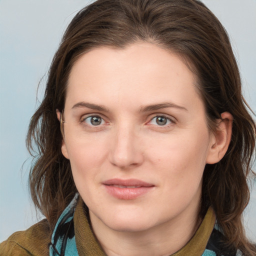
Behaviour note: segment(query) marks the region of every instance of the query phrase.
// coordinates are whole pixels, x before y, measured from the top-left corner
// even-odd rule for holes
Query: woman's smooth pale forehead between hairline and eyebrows
[[[114,99],[130,104],[172,100],[182,105],[198,97],[195,83],[196,76],[180,57],[155,44],[98,47],[73,64],[66,103]]]

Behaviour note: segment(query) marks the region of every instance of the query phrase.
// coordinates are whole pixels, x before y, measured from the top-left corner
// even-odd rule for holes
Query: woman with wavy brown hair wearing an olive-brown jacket
[[[255,255],[241,214],[255,125],[196,0],[98,0],[69,24],[27,145],[46,216],[4,255]]]

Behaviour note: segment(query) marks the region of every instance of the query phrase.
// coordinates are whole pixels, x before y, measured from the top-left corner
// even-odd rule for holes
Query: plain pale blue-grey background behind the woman
[[[228,31],[245,97],[256,110],[256,1],[203,0]],[[0,0],[0,241],[40,219],[29,199],[25,135],[64,28],[86,0]],[[43,82],[38,90],[43,93]],[[256,188],[246,209],[256,241]]]

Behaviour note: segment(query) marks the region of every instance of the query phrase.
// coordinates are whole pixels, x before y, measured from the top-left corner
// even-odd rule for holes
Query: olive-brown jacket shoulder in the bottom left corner
[[[17,231],[0,243],[0,255],[48,255],[50,229],[46,219],[30,226],[24,231]]]

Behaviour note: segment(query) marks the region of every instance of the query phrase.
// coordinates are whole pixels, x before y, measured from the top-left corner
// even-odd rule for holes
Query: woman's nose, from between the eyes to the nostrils
[[[122,125],[115,129],[110,145],[110,162],[121,169],[139,166],[144,156],[141,139],[138,138],[132,126]]]

